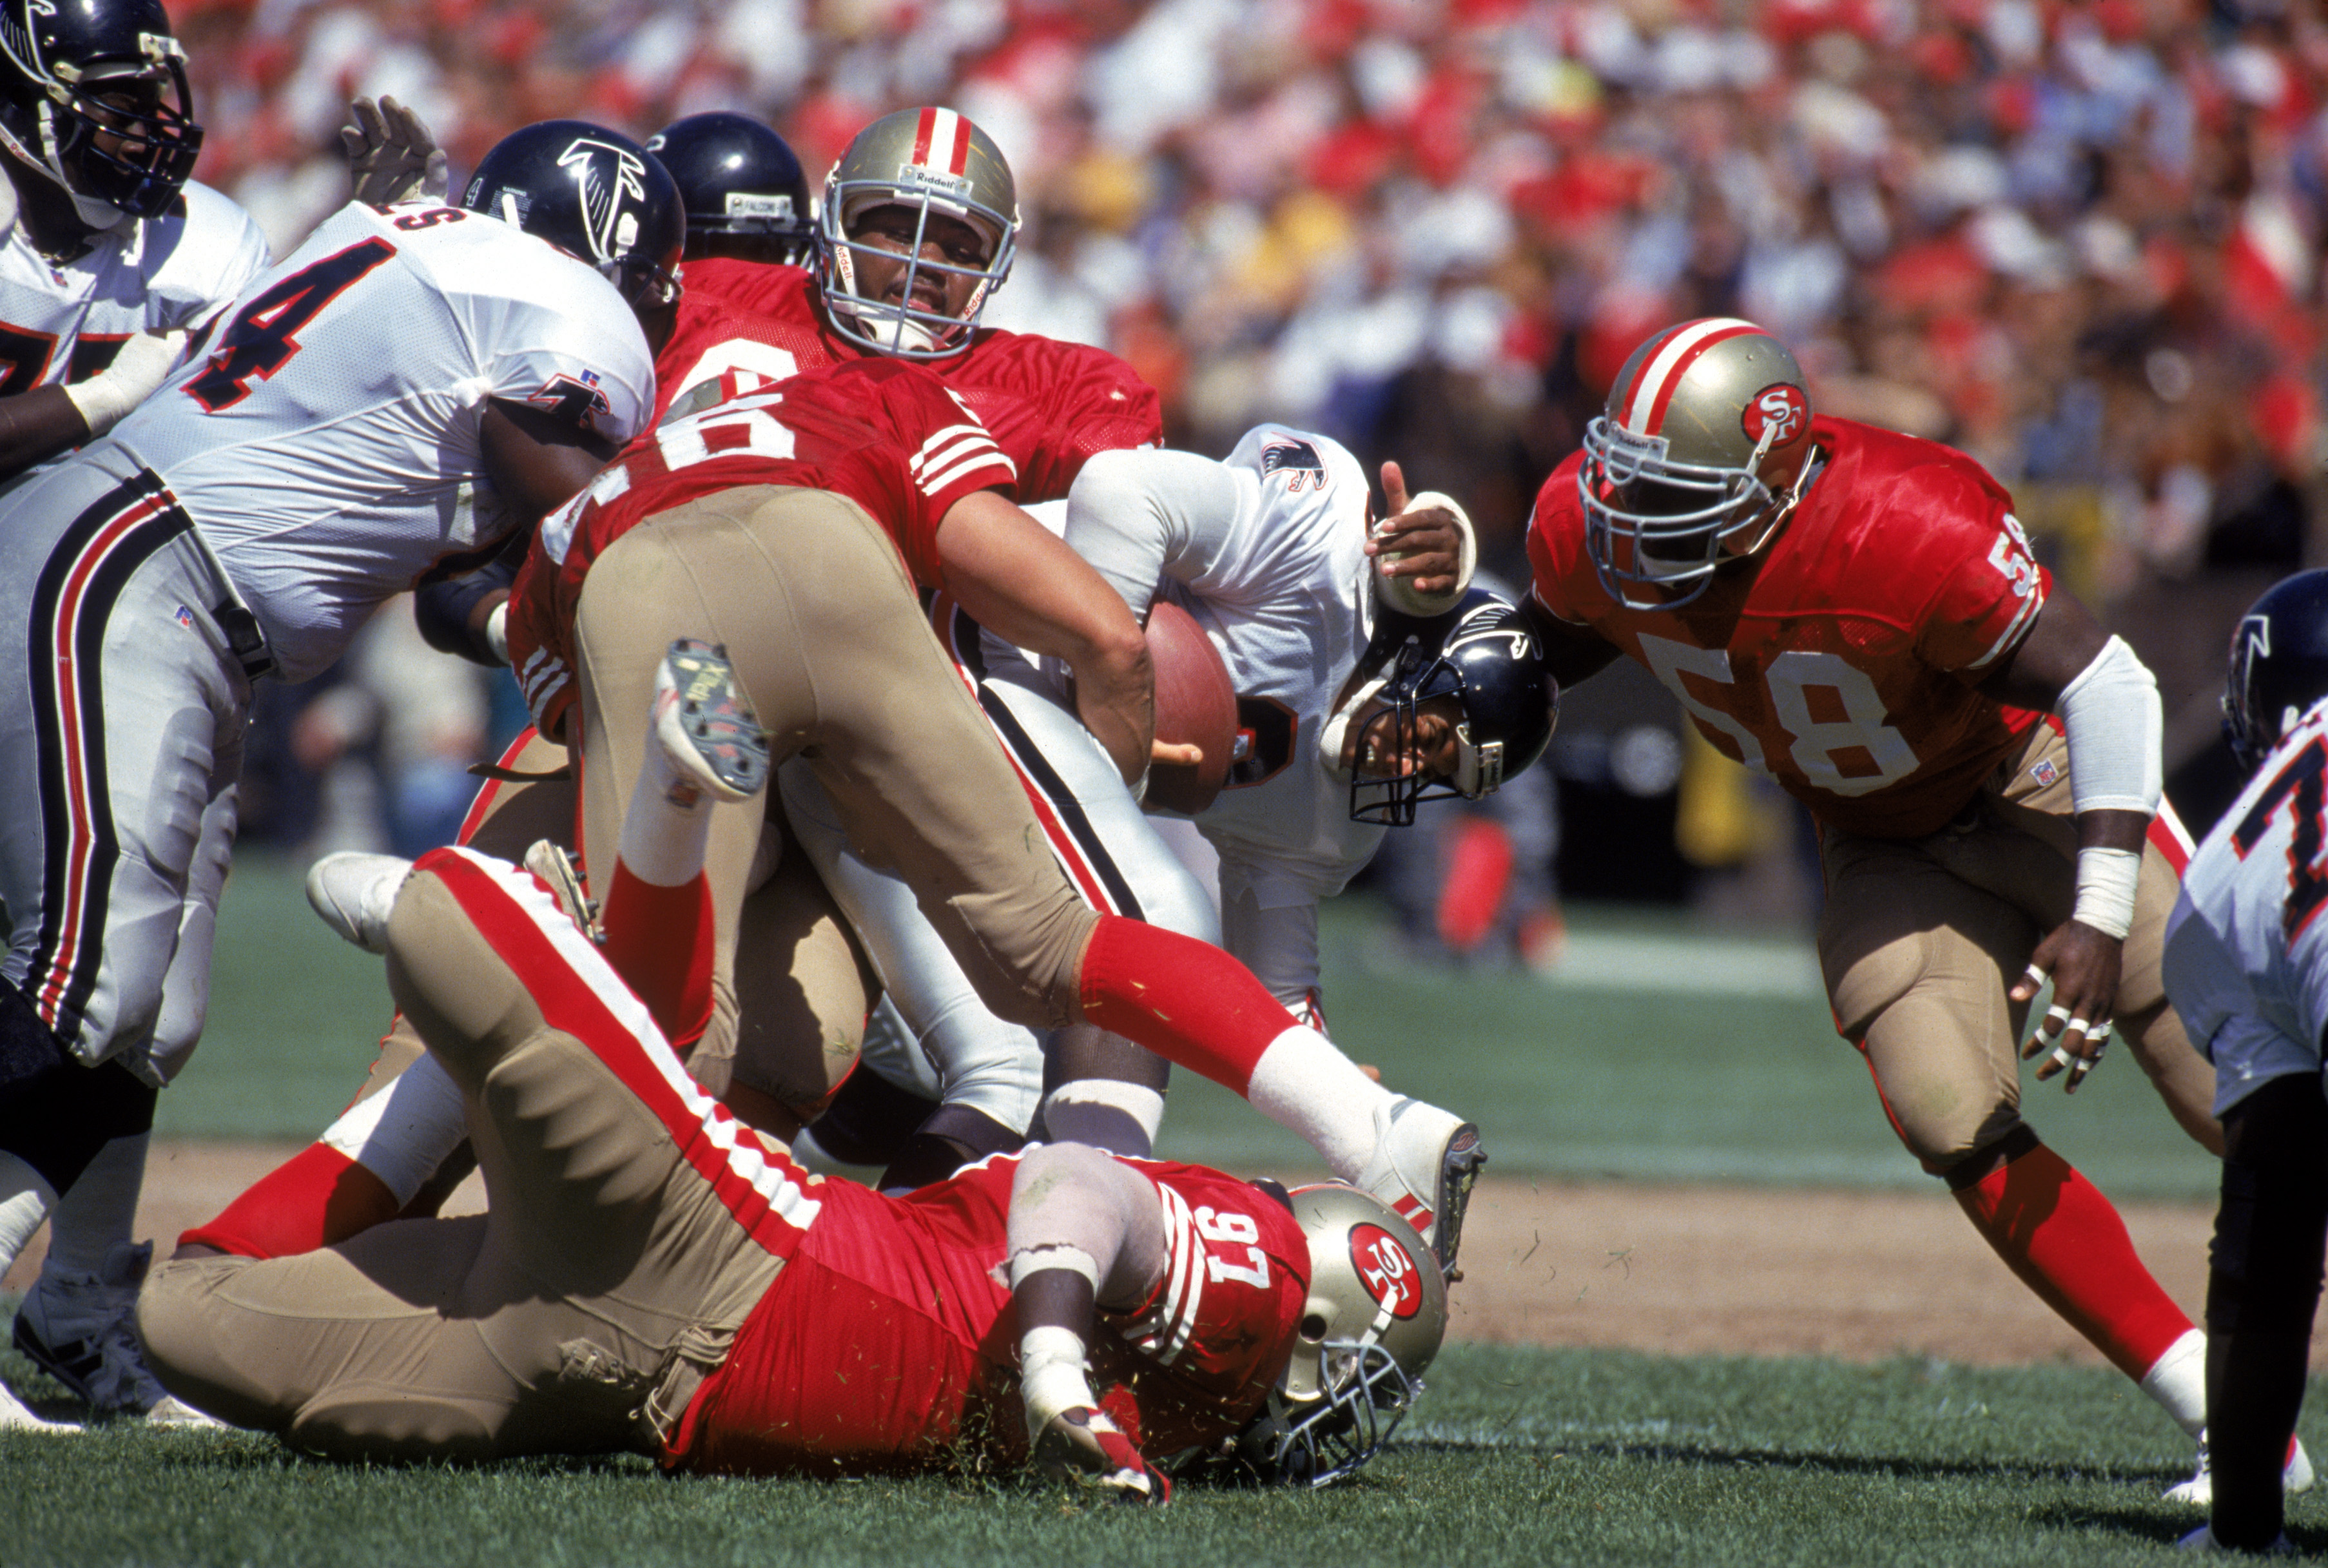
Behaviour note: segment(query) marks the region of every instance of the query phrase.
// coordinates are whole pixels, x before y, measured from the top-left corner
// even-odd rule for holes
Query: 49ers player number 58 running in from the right
[[[1893,1128],[1997,1256],[2193,1438],[2205,1335],[2109,1200],[2021,1119],[2014,1042],[2070,1091],[2123,1033],[2221,1152],[2214,1075],[2158,977],[2186,840],[2158,689],[2056,591],[1958,451],[1816,419],[1746,321],[1634,349],[1527,537],[1553,672],[1648,665],[1718,751],[1820,826],[1818,958]],[[2156,817],[2153,817],[2156,812]],[[2309,1484],[2300,1461],[2291,1480]],[[2205,1505],[2200,1468],[2170,1496]]]

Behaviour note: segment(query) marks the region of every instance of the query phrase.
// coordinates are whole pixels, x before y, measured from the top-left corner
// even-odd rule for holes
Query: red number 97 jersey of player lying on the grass
[[[1148,1175],[1169,1261],[1138,1312],[1101,1312],[1092,1391],[1150,1459],[1241,1431],[1292,1356],[1308,1242],[1248,1182]],[[824,1182],[822,1210],[703,1382],[663,1463],[733,1475],[1003,1468],[1027,1459],[1008,1287],[1015,1156],[903,1198]]]

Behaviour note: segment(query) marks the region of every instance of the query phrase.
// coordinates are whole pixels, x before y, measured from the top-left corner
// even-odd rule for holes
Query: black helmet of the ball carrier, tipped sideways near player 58
[[[1381,610],[1362,670],[1378,672],[1383,707],[1364,721],[1357,756],[1404,756],[1415,710],[1455,696],[1455,777],[1411,772],[1369,779],[1350,770],[1350,819],[1404,828],[1422,800],[1478,800],[1527,770],[1553,742],[1560,693],[1543,668],[1543,647],[1511,600],[1471,589],[1429,619]],[[1371,744],[1369,744],[1371,742]]]

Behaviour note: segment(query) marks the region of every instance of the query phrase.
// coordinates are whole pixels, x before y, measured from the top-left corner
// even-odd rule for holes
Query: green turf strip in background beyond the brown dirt
[[[1921,1186],[1804,940],[1739,942],[1678,917],[1578,910],[1560,977],[1418,968],[1376,905],[1325,910],[1334,1035],[1399,1089],[1478,1119],[1506,1175]],[[1627,963],[1611,977],[1613,963]],[[284,861],[242,856],[219,919],[210,1035],[163,1096],[182,1138],[307,1138],[354,1093],[386,1024],[379,961],[333,938]],[[2025,1075],[2023,1075],[2025,1077]],[[2030,1121],[2105,1191],[2207,1198],[2212,1161],[2123,1047],[2077,1098],[2028,1084]],[[1162,1152],[1299,1168],[1304,1145],[1180,1072]]]

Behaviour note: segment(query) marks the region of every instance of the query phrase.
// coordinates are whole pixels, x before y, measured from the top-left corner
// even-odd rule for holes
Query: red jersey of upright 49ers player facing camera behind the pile
[[[882,356],[840,337],[801,268],[710,256],[682,270],[687,293],[654,361],[661,419],[673,398],[733,370],[738,389]],[[1157,447],[1164,414],[1131,365],[1103,349],[980,328],[961,354],[910,361],[934,372],[1017,465],[1020,500],[1059,500],[1094,451]]]

